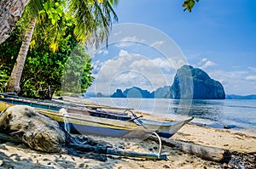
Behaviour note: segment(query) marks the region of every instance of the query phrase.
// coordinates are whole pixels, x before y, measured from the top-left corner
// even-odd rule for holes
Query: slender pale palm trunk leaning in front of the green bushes
[[[32,40],[33,31],[35,28],[37,20],[32,18],[29,23],[29,27],[26,30],[25,37],[23,38],[20,52],[16,59],[14,69],[12,70],[11,76],[9,77],[9,82],[7,85],[7,92],[20,93],[20,78],[22,75],[22,70],[25,64],[26,55],[28,52],[29,44]]]

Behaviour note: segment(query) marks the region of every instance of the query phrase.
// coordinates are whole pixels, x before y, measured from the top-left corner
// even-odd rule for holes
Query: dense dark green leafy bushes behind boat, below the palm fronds
[[[26,19],[20,20],[16,25],[15,30],[12,32],[9,39],[3,42],[0,46],[0,61],[2,63],[0,75],[3,82],[0,83],[0,90],[3,91],[3,84],[8,80],[11,69],[15,65],[15,59],[19,53],[21,45],[21,36]],[[40,24],[44,24],[48,29],[37,26],[31,42],[31,50],[27,54],[25,67],[20,81],[20,94],[31,98],[49,99],[52,93],[61,93],[61,79],[64,68],[67,67],[67,59],[71,60],[73,56],[73,48],[78,46],[76,37],[73,35],[74,25],[73,17],[69,14],[62,14],[58,24],[58,50],[53,52],[50,48],[52,43],[51,36],[55,32],[55,27],[52,25],[51,20],[41,20]],[[82,48],[80,47],[80,50]],[[81,54],[80,57],[87,60],[86,63],[77,62],[81,68],[79,93],[84,92],[86,87],[89,87],[93,81],[90,76],[90,56]],[[84,58],[83,58],[84,57]],[[82,65],[81,65],[82,64]],[[4,65],[4,66],[3,66]],[[3,69],[2,69],[3,68]],[[77,70],[79,71],[79,70]]]

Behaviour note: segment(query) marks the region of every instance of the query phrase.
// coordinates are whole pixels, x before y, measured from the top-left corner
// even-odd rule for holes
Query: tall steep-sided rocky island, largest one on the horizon
[[[177,70],[171,88],[173,99],[225,99],[222,84],[191,65]]]

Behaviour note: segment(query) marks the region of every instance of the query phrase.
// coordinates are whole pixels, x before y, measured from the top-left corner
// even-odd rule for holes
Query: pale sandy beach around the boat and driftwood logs
[[[139,114],[139,113],[138,113]],[[146,118],[160,119],[155,115]],[[151,140],[110,138],[88,135],[95,140],[103,140],[113,148],[127,149],[144,153],[157,153],[158,144]],[[187,124],[173,137],[195,144],[207,145],[242,153],[256,152],[256,134],[241,133],[235,130],[215,129]],[[0,168],[223,168],[224,164],[202,160],[196,155],[185,154],[177,149],[163,146],[166,161],[152,161],[108,155],[108,161],[96,161],[66,154],[49,154],[29,149],[25,144],[2,142],[0,144]]]

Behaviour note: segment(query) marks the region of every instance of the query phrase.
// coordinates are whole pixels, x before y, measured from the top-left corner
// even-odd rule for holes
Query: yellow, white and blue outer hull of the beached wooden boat
[[[0,102],[0,110],[5,110],[11,105],[13,104]],[[184,124],[192,120],[160,122],[142,119],[140,121],[143,122],[143,125],[140,125],[134,121],[121,121],[73,113],[61,114],[61,112],[55,110],[37,110],[58,121],[60,126],[65,128],[67,132],[123,138],[147,138],[148,134],[153,132],[157,132],[160,137],[170,138]]]

